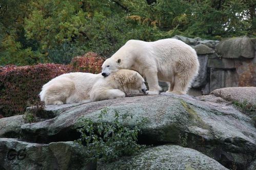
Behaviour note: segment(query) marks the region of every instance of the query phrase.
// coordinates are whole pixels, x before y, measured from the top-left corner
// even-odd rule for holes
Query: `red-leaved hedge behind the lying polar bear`
[[[23,114],[25,109],[40,101],[42,86],[52,78],[69,72],[101,72],[104,59],[96,53],[75,57],[70,65],[53,63],[35,66],[0,67],[0,115]]]

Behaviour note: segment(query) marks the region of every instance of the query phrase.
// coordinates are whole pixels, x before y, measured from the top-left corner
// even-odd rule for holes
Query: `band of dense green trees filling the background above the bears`
[[[255,29],[253,0],[8,0],[0,2],[0,65],[111,56],[128,39],[220,39]]]

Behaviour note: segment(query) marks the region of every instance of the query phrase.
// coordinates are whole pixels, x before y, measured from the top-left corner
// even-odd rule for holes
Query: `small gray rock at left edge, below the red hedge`
[[[23,115],[0,119],[0,137],[18,137],[23,124],[25,124]]]

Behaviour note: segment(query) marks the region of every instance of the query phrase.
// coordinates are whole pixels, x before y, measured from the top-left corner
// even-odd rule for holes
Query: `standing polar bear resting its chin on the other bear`
[[[105,60],[102,75],[108,76],[119,69],[135,70],[146,77],[149,95],[159,94],[158,81],[168,82],[167,92],[186,94],[198,74],[199,61],[195,50],[178,39],[129,40]]]

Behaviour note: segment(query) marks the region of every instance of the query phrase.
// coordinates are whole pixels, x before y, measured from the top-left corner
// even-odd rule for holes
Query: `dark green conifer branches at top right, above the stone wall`
[[[177,33],[204,38],[256,35],[253,0],[157,0],[150,5],[139,0],[124,2],[130,10],[128,18],[155,28],[158,38]]]

